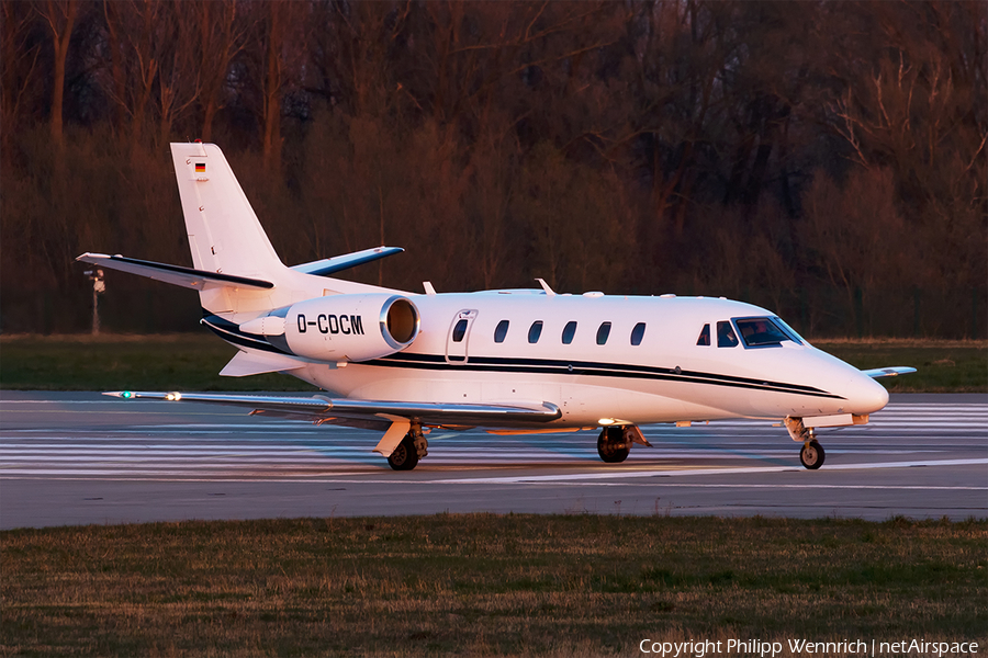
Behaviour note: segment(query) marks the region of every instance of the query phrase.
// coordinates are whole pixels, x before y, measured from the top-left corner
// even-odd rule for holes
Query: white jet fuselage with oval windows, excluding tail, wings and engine
[[[311,363],[292,374],[353,399],[544,400],[562,411],[557,427],[866,415],[888,401],[882,385],[798,337],[748,347],[736,319],[774,316],[750,304],[541,291],[407,298],[422,327],[404,350],[360,363]],[[348,318],[345,326],[359,322],[366,331],[374,320]],[[328,319],[318,322],[310,330],[327,329],[327,344],[341,338],[328,331]],[[718,347],[718,322],[731,322],[733,347]],[[697,344],[705,326],[710,344]]]

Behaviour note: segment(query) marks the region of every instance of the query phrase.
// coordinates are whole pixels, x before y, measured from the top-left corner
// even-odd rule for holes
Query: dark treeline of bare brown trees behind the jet
[[[386,243],[352,276],[984,336],[986,8],[4,1],[0,329],[86,329],[82,251],[190,263],[168,143],[202,138],[287,264]],[[108,287],[110,329],[195,317]]]

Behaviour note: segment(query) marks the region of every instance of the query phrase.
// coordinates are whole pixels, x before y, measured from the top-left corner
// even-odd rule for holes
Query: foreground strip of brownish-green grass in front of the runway
[[[988,639],[985,520],[439,514],[14,530],[0,542],[2,655]]]

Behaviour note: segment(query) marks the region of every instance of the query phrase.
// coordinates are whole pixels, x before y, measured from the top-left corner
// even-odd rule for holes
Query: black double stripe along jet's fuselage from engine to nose
[[[598,377],[621,377],[632,379],[659,379],[667,382],[682,382],[692,384],[709,384],[714,386],[728,386],[732,388],[751,388],[755,390],[772,390],[775,393],[790,393],[813,397],[844,399],[839,395],[800,384],[786,384],[782,382],[768,382],[765,379],[752,379],[720,375],[716,373],[703,373],[696,371],[652,367],[648,365],[600,363],[594,361],[560,361],[550,359],[505,359],[497,356],[471,356],[465,363],[449,363],[446,356],[439,354],[414,354],[398,352],[382,359],[363,362],[364,365],[378,365],[384,367],[407,367],[417,370],[467,370],[473,372],[502,372],[502,373],[537,373],[550,375],[592,375]]]

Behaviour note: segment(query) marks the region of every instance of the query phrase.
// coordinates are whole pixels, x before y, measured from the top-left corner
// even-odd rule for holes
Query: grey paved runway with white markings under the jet
[[[763,421],[642,428],[654,449],[597,458],[596,433],[434,431],[411,473],[379,434],[232,408],[96,393],[0,392],[0,527],[435,512],[988,517],[988,396],[900,395],[821,431],[827,462]]]

